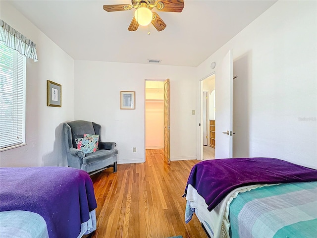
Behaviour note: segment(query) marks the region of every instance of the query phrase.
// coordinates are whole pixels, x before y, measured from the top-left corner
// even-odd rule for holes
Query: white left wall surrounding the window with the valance
[[[26,60],[26,144],[0,152],[1,167],[67,166],[61,123],[73,119],[74,60],[8,2],[1,19],[37,45],[38,62]],[[62,107],[47,107],[47,80],[62,85]]]

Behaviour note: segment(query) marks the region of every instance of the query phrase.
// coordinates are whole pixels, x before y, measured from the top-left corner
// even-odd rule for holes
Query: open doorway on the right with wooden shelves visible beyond
[[[214,159],[215,149],[215,74],[201,81],[202,97],[202,156],[203,160]]]

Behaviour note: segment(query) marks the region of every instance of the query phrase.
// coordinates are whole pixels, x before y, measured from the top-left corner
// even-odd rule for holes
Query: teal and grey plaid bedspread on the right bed
[[[317,238],[317,181],[239,193],[229,220],[231,238]]]

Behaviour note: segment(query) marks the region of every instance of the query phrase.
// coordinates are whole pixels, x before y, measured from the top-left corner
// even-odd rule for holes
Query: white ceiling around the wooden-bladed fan
[[[158,12],[166,28],[127,30],[134,9],[106,12],[130,0],[10,0],[74,60],[197,66],[276,0],[184,0],[182,12]],[[35,42],[36,43],[36,42]]]

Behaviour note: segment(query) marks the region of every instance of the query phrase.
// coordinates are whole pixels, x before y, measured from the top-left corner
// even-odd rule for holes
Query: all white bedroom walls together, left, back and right
[[[101,123],[104,140],[118,144],[119,163],[143,162],[144,80],[166,78],[171,80],[171,159],[195,159],[199,121],[191,110],[199,108],[198,79],[216,71],[233,49],[238,75],[234,88],[239,89],[234,93],[234,156],[276,157],[317,168],[316,4],[276,2],[191,68],[74,62],[8,2],[0,1],[1,19],[33,40],[39,57],[36,63],[27,60],[27,145],[1,152],[0,165],[65,166],[61,123],[72,119]],[[212,61],[215,69],[210,68]],[[62,108],[46,106],[46,80],[62,85]],[[135,110],[119,109],[120,90],[136,91]]]

